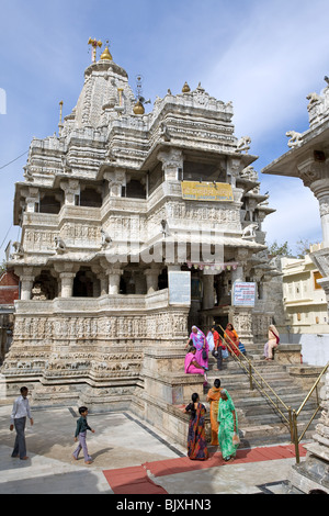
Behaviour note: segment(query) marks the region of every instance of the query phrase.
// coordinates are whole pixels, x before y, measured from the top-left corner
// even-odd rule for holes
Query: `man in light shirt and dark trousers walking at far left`
[[[14,449],[11,457],[20,457],[21,460],[29,459],[29,457],[26,457],[26,444],[24,434],[26,417],[29,417],[31,425],[33,425],[33,418],[31,417],[27,394],[27,388],[21,388],[21,396],[19,396],[14,401],[10,419],[10,430],[13,430],[14,428],[16,430]]]

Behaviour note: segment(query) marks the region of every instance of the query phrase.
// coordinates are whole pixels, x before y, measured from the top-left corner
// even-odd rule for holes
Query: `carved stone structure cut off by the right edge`
[[[326,77],[327,80],[327,77]],[[292,138],[292,149],[273,164],[265,167],[264,173],[280,173],[288,177],[299,177],[304,186],[309,188],[319,201],[324,248],[310,253],[310,258],[318,267],[322,279],[318,280],[327,296],[329,310],[329,88],[320,96],[310,93],[309,111],[310,127],[298,134],[295,143]],[[292,133],[291,133],[292,134]],[[288,135],[288,133],[287,133]],[[298,229],[298,228],[296,228]],[[293,493],[310,493],[320,490],[329,494],[329,373],[320,392],[321,418],[313,436],[313,442],[304,445],[307,456],[304,462],[295,464],[291,471],[290,490]]]

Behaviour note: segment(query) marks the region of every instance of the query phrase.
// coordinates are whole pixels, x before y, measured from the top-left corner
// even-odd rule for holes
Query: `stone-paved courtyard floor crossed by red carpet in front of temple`
[[[90,412],[88,448],[73,460],[77,407],[32,407],[26,425],[29,460],[11,458],[15,433],[9,430],[11,405],[0,406],[0,494],[254,494],[283,493],[295,463],[292,446],[239,450],[223,463],[190,461],[186,450],[135,415]],[[303,455],[303,453],[302,453]],[[303,460],[303,459],[302,459]],[[114,471],[115,470],[115,471]]]

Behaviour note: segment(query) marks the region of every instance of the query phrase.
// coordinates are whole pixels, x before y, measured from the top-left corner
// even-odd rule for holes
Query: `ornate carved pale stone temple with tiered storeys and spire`
[[[182,378],[192,323],[230,321],[246,345],[265,334],[273,310],[260,292],[275,271],[261,225],[273,210],[231,102],[184,85],[146,113],[94,42],[77,105],[57,135],[32,141],[15,184],[22,238],[8,267],[21,296],[2,373],[35,403],[151,418],[159,399],[194,390]],[[257,285],[253,305],[232,304],[236,281]]]

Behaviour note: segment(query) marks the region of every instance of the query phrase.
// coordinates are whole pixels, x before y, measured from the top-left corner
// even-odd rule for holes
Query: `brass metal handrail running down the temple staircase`
[[[309,400],[309,397],[311,396],[314,390],[317,388],[318,383],[320,382],[322,375],[325,374],[325,372],[327,371],[328,367],[329,367],[329,362],[327,363],[327,366],[322,369],[321,373],[319,374],[318,379],[316,380],[315,384],[313,385],[313,388],[310,389],[310,391],[308,392],[308,394],[306,395],[305,400],[303,401],[303,403],[300,404],[299,408],[297,411],[295,410],[292,410],[291,406],[287,406],[284,401],[275,393],[275,391],[271,388],[271,385],[265,381],[265,379],[262,377],[262,374],[257,370],[257,368],[253,366],[253,363],[243,355],[243,360],[248,363],[248,368],[245,366],[245,363],[242,363],[242,361],[239,359],[239,357],[234,352],[234,348],[235,349],[238,349],[239,350],[239,347],[232,341],[232,339],[229,337],[229,335],[226,335],[226,337],[229,339],[230,344],[227,341],[227,338],[224,337],[225,335],[225,330],[223,329],[223,327],[220,325],[218,325],[218,327],[222,329],[223,332],[223,340],[226,343],[227,347],[229,348],[229,350],[231,351],[231,355],[232,357],[238,360],[238,362],[240,363],[240,366],[242,367],[242,369],[245,369],[246,372],[248,372],[249,374],[249,382],[250,382],[250,389],[253,390],[253,383],[252,381],[258,385],[260,392],[262,395],[264,395],[271,403],[272,405],[275,407],[275,410],[281,414],[281,416],[290,425],[290,431],[291,431],[291,439],[292,439],[292,442],[295,445],[295,455],[296,455],[296,462],[299,463],[299,448],[298,448],[298,445],[300,442],[300,440],[303,439],[305,433],[307,431],[307,429],[309,428],[309,425],[311,424],[311,422],[314,420],[315,416],[317,415],[317,413],[319,412],[319,410],[321,408],[320,406],[320,403],[319,403],[319,400],[318,400],[318,393],[317,393],[317,403],[318,403],[318,406],[316,408],[316,411],[314,412],[309,423],[307,424],[306,428],[304,429],[304,431],[300,434],[300,436],[298,437],[298,431],[297,431],[297,417],[300,415],[300,412],[303,411],[303,408],[305,407],[307,401]],[[232,348],[232,347],[234,348]],[[239,350],[239,355],[240,355],[240,350]],[[256,374],[259,375],[259,378],[261,379],[261,382],[262,384],[257,380],[256,378]],[[276,399],[276,402],[275,403],[271,396],[269,396],[269,394],[266,393],[266,391],[263,389],[263,384],[273,393],[273,395],[275,396]],[[285,416],[285,414],[283,414],[283,412],[280,410],[279,405],[282,405],[288,413],[288,417]]]

